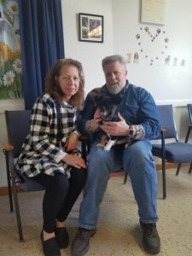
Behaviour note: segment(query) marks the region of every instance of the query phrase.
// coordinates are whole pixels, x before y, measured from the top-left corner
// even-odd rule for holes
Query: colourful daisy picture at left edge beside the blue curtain
[[[22,97],[19,6],[0,0],[0,99]]]

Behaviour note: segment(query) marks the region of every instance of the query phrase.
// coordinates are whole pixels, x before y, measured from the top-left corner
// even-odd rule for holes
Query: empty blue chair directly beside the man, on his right
[[[166,198],[166,162],[182,164],[192,161],[192,145],[180,143],[174,121],[172,105],[157,106],[160,114],[161,135],[160,144],[153,144],[154,156],[162,160],[163,198]],[[172,139],[172,142],[167,141]]]

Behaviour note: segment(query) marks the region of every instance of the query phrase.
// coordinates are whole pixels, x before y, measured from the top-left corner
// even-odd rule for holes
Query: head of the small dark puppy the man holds
[[[101,113],[102,121],[118,121],[119,99],[113,96],[96,96],[96,108]]]

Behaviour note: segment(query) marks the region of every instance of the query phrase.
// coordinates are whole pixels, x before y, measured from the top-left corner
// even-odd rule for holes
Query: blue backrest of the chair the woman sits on
[[[9,143],[14,146],[14,158],[19,157],[22,143],[30,130],[30,116],[31,110],[5,111],[8,139]]]

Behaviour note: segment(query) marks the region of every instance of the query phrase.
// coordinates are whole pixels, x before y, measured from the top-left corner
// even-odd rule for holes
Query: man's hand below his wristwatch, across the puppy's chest
[[[100,128],[111,136],[127,136],[129,125],[126,124],[125,119],[119,113],[118,116],[118,122],[103,122]]]

